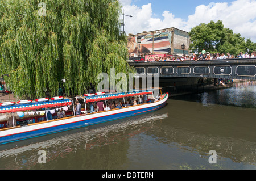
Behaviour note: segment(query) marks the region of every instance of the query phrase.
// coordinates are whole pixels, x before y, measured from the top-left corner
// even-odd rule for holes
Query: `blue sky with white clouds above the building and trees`
[[[222,20],[224,27],[256,42],[256,0],[120,0],[126,33],[140,33],[175,27],[184,31],[210,20]]]

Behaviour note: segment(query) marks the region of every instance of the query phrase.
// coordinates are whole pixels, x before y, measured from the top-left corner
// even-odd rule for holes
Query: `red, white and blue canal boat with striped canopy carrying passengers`
[[[40,99],[43,101],[35,101],[27,104],[15,103],[11,106],[0,106],[0,115],[6,115],[9,113],[10,121],[15,120],[14,112],[17,112],[18,115],[16,125],[13,122],[13,125],[15,125],[14,127],[0,129],[0,144],[105,123],[106,121],[118,120],[125,117],[159,110],[166,105],[168,93],[163,95],[160,94],[160,99],[155,100],[153,91],[154,90],[138,90],[126,93],[106,93],[94,96],[77,96],[76,98],[54,98],[48,99],[47,101]],[[142,103],[141,96],[143,95],[147,95],[149,98],[147,103]],[[113,99],[123,99],[125,103],[125,99],[131,96],[139,98],[140,101],[137,105],[126,106],[125,104],[122,108],[114,108],[108,111],[98,111],[93,113],[89,113],[86,108],[86,103],[99,101],[106,103],[107,100]],[[84,111],[82,111],[81,115],[75,115],[74,99],[80,99],[84,102]],[[56,111],[52,109],[53,107],[56,111],[60,108],[65,110],[67,117],[49,120],[49,116],[47,116],[48,113],[51,112],[52,115],[56,115]],[[46,120],[39,121],[40,118],[43,117],[46,117]],[[27,124],[21,124],[23,121],[26,121]],[[3,125],[1,124],[1,119],[0,125]]]

